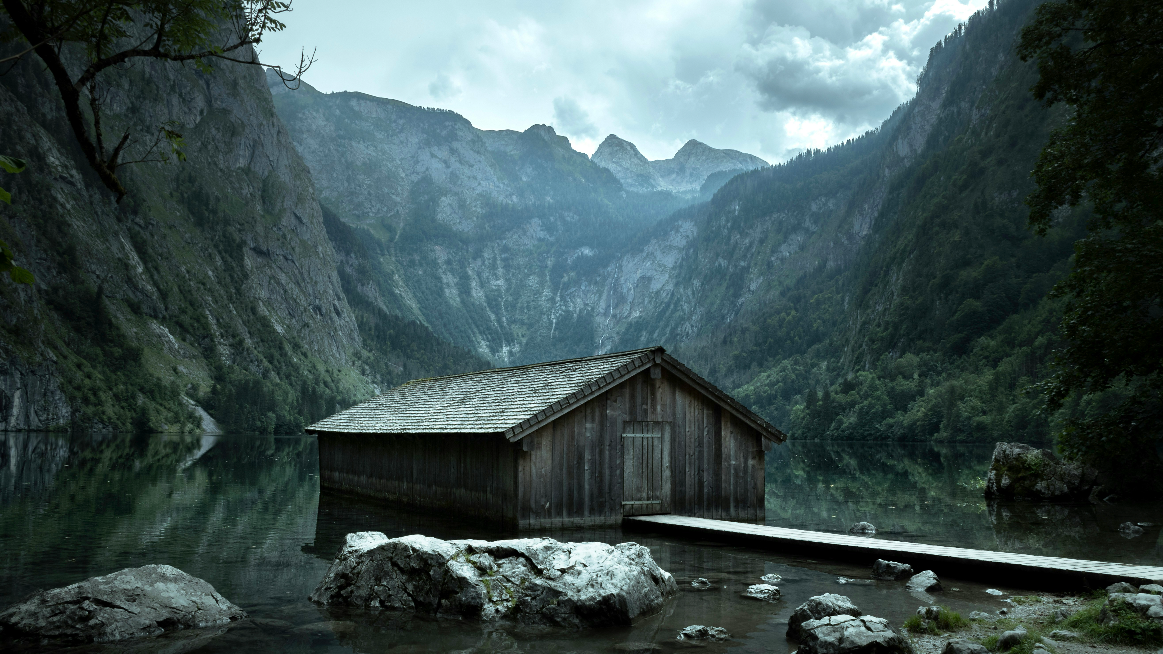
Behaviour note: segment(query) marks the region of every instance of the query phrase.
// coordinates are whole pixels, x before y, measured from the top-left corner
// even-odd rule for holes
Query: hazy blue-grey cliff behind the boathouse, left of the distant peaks
[[[366,300],[497,363],[599,348],[590,307],[562,298],[588,294],[627,240],[686,202],[627,191],[547,126],[479,130],[447,111],[269,79],[322,202],[369,253]]]

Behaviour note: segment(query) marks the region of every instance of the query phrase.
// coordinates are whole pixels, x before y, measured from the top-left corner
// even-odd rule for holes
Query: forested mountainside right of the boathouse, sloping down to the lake
[[[1034,5],[1001,2],[949,35],[878,130],[715,194],[702,261],[741,235],[766,241],[702,286],[705,305],[739,301],[733,286],[782,264],[725,329],[679,346],[692,363],[801,439],[1049,438],[1027,389],[1057,344],[1047,292],[1085,216],[1063,213],[1046,237],[1026,225],[1029,170],[1062,118],[1014,55]]]

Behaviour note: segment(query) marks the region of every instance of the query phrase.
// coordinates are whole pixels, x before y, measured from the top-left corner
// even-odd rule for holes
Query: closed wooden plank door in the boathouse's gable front
[[[622,425],[622,516],[670,513],[670,422]]]

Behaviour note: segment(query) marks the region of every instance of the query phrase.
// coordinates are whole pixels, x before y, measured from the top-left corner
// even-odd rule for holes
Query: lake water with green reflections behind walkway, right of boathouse
[[[1126,563],[1163,564],[1163,504],[986,502],[993,446],[789,441],[768,455],[769,525]],[[1126,521],[1155,523],[1135,539]]]

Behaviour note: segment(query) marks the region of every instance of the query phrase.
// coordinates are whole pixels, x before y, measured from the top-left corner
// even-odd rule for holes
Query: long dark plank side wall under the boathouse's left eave
[[[321,434],[320,483],[516,526],[519,449],[500,434]]]

